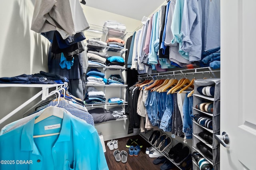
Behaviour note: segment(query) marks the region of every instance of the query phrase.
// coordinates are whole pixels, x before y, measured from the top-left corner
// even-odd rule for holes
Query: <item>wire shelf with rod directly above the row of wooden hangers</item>
[[[208,70],[206,70],[208,69]],[[200,71],[202,70],[202,71]],[[138,75],[138,78],[148,78],[148,77],[164,77],[164,76],[175,76],[175,75],[186,75],[186,74],[198,74],[202,73],[210,73],[214,77],[216,75],[214,72],[220,72],[220,70],[212,70],[210,67],[201,67],[201,68],[195,68],[195,69],[184,69],[184,70],[174,70],[174,71],[166,71],[166,72],[161,72],[161,73],[152,73],[152,74],[143,74],[143,75]]]

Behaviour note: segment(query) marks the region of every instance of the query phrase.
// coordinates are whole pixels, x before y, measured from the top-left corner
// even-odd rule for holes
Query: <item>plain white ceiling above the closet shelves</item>
[[[85,0],[86,6],[112,12],[136,20],[150,16],[166,0]]]

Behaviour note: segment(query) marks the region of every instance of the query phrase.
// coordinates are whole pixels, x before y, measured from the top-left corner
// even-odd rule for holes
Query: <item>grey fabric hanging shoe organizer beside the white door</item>
[[[207,87],[209,86],[209,87]],[[206,88],[208,88],[206,90]],[[220,134],[220,79],[198,79],[194,81],[194,103],[193,103],[193,115],[198,116],[198,121],[193,119],[193,152],[200,153],[210,164],[212,164],[214,170],[220,169],[220,144],[214,137],[215,134]],[[213,91],[214,89],[214,91]],[[213,94],[214,93],[214,94]],[[209,106],[210,104],[211,107]],[[201,117],[205,117],[204,120],[212,120],[212,129],[205,127],[204,120]],[[199,120],[200,119],[200,120]],[[203,120],[203,121],[202,121]],[[200,122],[201,121],[201,122]],[[212,144],[206,139],[199,136],[199,133],[206,133],[212,138]],[[196,144],[200,143],[201,149],[210,149],[213,157],[209,158],[202,150],[200,150]],[[198,163],[194,158],[193,169],[199,170]]]

